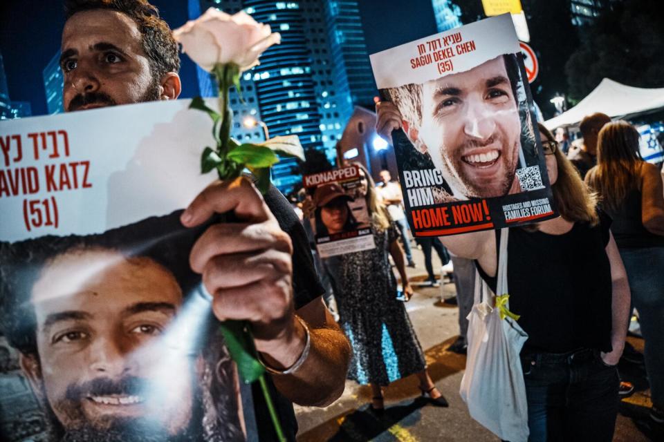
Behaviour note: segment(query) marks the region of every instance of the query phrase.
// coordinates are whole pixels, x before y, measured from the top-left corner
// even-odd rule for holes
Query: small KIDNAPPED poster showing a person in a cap
[[[376,248],[365,194],[367,180],[356,165],[304,175],[306,206],[321,258]]]

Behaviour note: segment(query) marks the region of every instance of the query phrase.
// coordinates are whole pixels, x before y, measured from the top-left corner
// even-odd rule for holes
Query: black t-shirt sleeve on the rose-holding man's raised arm
[[[270,211],[279,222],[279,227],[288,233],[293,242],[293,298],[295,309],[304,307],[308,302],[314,300],[324,293],[324,289],[318,280],[316,269],[313,266],[311,249],[304,232],[304,227],[293,211],[288,200],[275,187],[270,185],[268,192],[263,195]]]

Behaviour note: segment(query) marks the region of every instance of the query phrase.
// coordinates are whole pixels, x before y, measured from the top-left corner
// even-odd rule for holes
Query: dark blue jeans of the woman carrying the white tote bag
[[[611,441],[618,414],[618,370],[599,352],[522,354],[528,442]]]

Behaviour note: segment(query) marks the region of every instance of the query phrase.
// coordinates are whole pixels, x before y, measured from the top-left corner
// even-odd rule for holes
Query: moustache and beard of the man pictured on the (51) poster
[[[199,441],[203,434],[201,423],[201,395],[194,385],[192,416],[189,424],[177,434],[171,434],[162,421],[152,417],[101,416],[90,419],[83,411],[83,401],[91,396],[143,396],[151,388],[148,381],[127,376],[120,381],[97,378],[80,385],[70,385],[63,401],[55,404],[66,414],[69,423],[61,441],[66,442],[190,442]]]

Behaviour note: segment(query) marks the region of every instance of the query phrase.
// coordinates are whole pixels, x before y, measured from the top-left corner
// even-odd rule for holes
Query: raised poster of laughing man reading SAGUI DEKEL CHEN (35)
[[[371,55],[415,236],[515,227],[557,216],[510,15]]]

